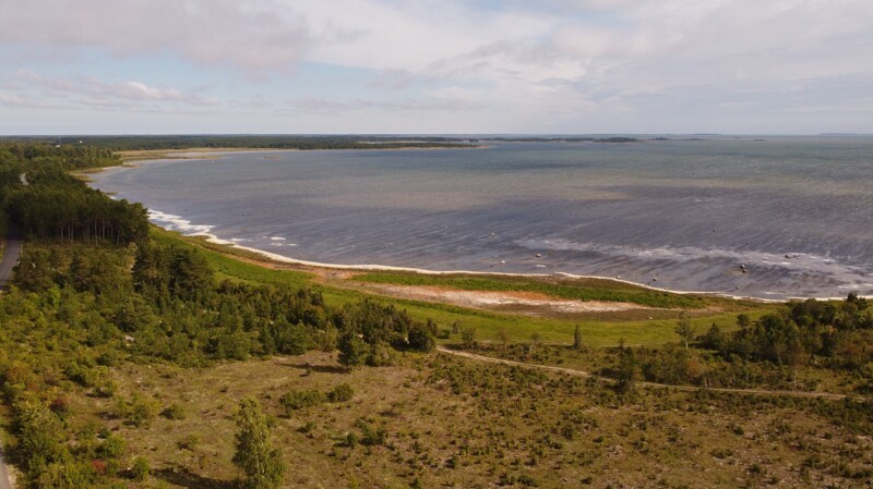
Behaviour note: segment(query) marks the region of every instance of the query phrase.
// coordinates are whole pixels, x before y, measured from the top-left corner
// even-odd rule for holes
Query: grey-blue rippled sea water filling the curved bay
[[[873,137],[486,144],[162,160],[93,185],[307,261],[873,295]]]

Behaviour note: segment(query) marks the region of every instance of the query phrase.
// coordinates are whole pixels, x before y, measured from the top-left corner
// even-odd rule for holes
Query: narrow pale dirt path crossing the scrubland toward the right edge
[[[478,362],[487,362],[491,364],[501,364],[501,365],[511,365],[515,367],[523,367],[523,368],[534,368],[539,370],[549,370],[549,371],[557,371],[560,374],[571,375],[575,377],[583,377],[586,379],[597,379],[598,381],[606,382],[606,383],[614,383],[615,380],[609,377],[598,376],[591,374],[589,371],[584,370],[576,370],[573,368],[566,367],[555,367],[552,365],[538,365],[538,364],[528,364],[525,362],[516,362],[511,359],[504,358],[494,358],[493,356],[485,356],[485,355],[477,355],[475,353],[468,352],[458,352],[455,350],[444,349],[442,346],[436,349],[438,352],[446,354],[446,355],[454,355],[464,358],[469,358]],[[835,401],[841,401],[844,399],[851,399],[856,401],[863,401],[864,398],[859,398],[854,395],[846,395],[846,394],[834,394],[830,392],[803,392],[803,391],[777,391],[777,390],[769,390],[769,389],[729,389],[729,388],[701,388],[694,386],[670,386],[667,383],[657,383],[657,382],[637,382],[639,387],[649,388],[649,389],[671,389],[679,392],[697,392],[697,391],[709,391],[709,392],[722,392],[729,394],[741,394],[741,395],[774,395],[774,396],[788,396],[788,398],[818,398],[818,399],[829,399]]]

